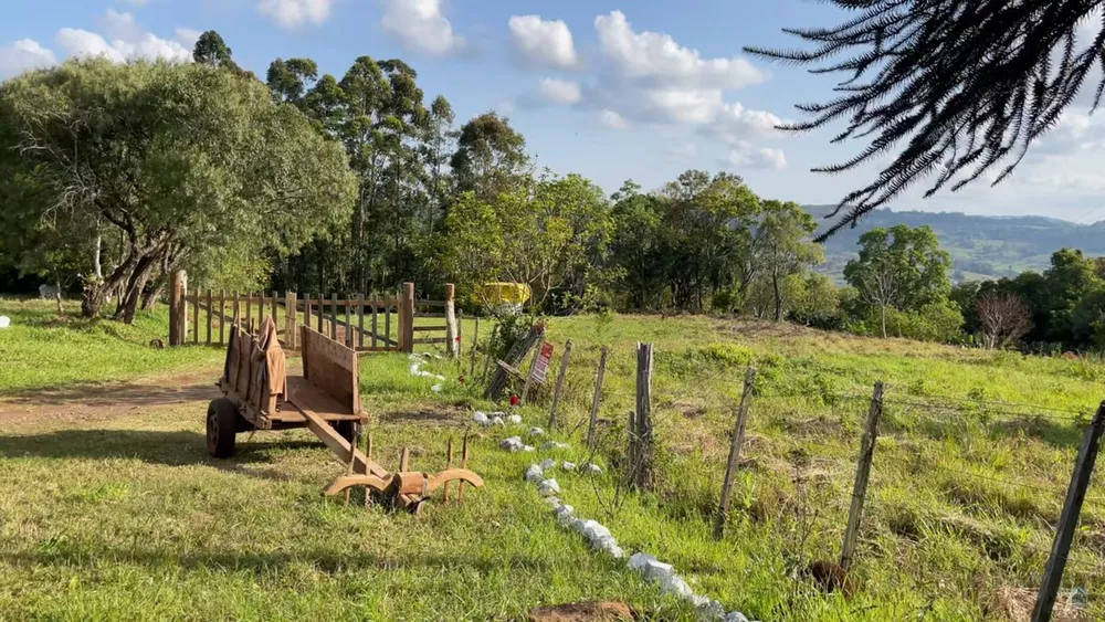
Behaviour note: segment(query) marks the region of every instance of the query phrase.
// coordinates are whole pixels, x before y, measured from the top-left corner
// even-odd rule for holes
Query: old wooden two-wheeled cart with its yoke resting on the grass
[[[308,326],[301,327],[303,376],[287,376],[284,351],[277,341],[276,325],[266,318],[259,335],[244,330],[235,319],[227,347],[227,360],[218,386],[222,398],[208,407],[207,444],[214,457],[234,454],[236,434],[255,430],[306,428],[347,466],[347,473],[327,488],[328,496],[364,486],[366,505],[376,499],[391,509],[419,512],[431,494],[460,482],[482,488],[483,479],[467,468],[469,443],[464,439],[460,468],[449,463],[439,473],[409,470],[410,452],[403,450],[399,471],[389,473],[358,447],[361,428],[368,418],[360,408],[360,373],[356,350],[347,348]]]

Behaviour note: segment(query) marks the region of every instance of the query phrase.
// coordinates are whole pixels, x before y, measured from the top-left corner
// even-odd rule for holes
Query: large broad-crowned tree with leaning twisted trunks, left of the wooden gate
[[[117,245],[103,280],[85,278],[90,317],[118,293],[130,321],[158,271],[296,249],[352,200],[337,145],[261,83],[207,64],[24,74],[0,86],[0,194],[24,204],[4,226],[64,223],[90,257],[99,233]]]

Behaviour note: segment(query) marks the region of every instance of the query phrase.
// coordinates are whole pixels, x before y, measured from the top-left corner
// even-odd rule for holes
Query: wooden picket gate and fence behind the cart
[[[224,345],[234,318],[250,331],[265,317],[276,323],[281,345],[298,350],[299,326],[312,326],[361,354],[412,352],[415,345],[444,344],[450,354],[460,346],[460,325],[453,313],[454,288],[444,301],[415,301],[414,284],[404,283],[398,296],[364,294],[296,294],[294,292],[240,293],[189,289],[187,275],[173,274],[169,299],[169,345]],[[420,313],[419,309],[443,313]],[[418,323],[422,317],[443,318],[441,325]],[[443,336],[432,336],[441,333]],[[415,338],[419,335],[419,338]],[[425,335],[425,336],[423,336]]]

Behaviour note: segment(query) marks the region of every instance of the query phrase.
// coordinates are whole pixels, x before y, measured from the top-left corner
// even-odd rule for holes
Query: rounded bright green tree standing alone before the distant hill
[[[887,309],[916,312],[947,298],[950,267],[951,256],[940,250],[930,226],[899,224],[861,235],[860,256],[844,266],[844,278],[856,288],[864,306],[877,309],[886,337]]]

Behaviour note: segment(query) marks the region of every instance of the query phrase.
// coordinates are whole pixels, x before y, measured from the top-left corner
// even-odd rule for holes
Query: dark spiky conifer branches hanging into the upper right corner
[[[1006,179],[1033,141],[1054,127],[1084,86],[1096,107],[1105,75],[1103,0],[831,0],[857,12],[835,28],[787,32],[810,50],[749,48],[768,59],[842,73],[836,95],[798,109],[811,119],[785,126],[810,130],[843,120],[834,143],[870,139],[857,156],[814,169],[836,173],[904,147],[870,185],[840,202],[848,214],[827,238],[887,203],[925,177],[932,196],[958,190],[1003,162]],[[1097,28],[1080,36],[1090,18]],[[851,53],[851,56],[844,56]]]

